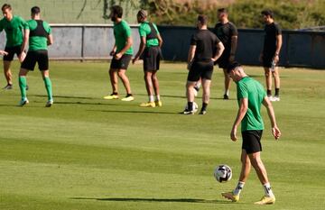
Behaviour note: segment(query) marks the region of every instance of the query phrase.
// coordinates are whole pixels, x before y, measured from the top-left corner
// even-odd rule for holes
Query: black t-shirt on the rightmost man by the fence
[[[281,28],[277,23],[265,25],[264,53],[274,54],[276,50],[276,36],[280,34],[282,34]]]

